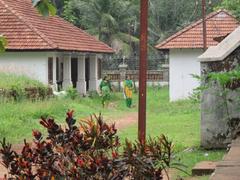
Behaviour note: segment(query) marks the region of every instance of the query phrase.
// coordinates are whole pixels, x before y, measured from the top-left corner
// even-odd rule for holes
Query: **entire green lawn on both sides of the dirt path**
[[[134,102],[137,104],[137,95],[134,96]],[[149,88],[147,102],[148,136],[155,137],[162,133],[167,135],[175,144],[176,157],[181,159],[182,164],[188,166],[189,173],[196,162],[222,158],[224,151],[206,151],[199,148],[199,104],[194,104],[191,101],[170,103],[167,87]],[[40,116],[52,116],[58,122],[63,123],[65,112],[68,109],[74,109],[75,117],[79,120],[98,112],[102,112],[106,120],[118,119],[128,113],[137,112],[136,105],[132,109],[125,107],[122,93],[115,93],[111,104],[106,109],[101,107],[99,97],[0,103],[0,139],[6,137],[12,143],[22,142],[24,138],[30,139],[32,129],[41,129],[38,124]],[[135,140],[137,138],[137,124],[121,129],[119,136],[122,141],[125,138]],[[186,176],[183,173],[180,175]]]

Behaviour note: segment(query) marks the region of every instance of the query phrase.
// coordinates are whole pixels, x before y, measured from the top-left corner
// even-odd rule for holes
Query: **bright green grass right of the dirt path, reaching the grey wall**
[[[190,100],[169,102],[168,88],[159,90],[157,87],[148,89],[147,98],[147,136],[165,134],[173,141],[177,159],[187,166],[191,173],[192,167],[200,161],[217,161],[222,159],[223,150],[206,151],[200,148],[200,109],[198,103]],[[121,130],[122,139],[137,138],[137,124]],[[189,150],[188,150],[189,149]],[[182,176],[186,174],[180,173]]]

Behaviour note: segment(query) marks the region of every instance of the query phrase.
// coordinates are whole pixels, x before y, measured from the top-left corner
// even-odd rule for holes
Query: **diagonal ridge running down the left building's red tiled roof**
[[[57,49],[58,46],[54,44],[50,39],[48,39],[42,32],[38,31],[32,24],[25,21],[24,18],[19,15],[15,10],[9,7],[4,1],[0,0],[0,2],[5,6],[5,8],[10,11],[14,16],[16,16],[20,21],[22,21],[26,26],[28,26],[33,32],[35,32],[42,40],[44,40],[51,48]]]

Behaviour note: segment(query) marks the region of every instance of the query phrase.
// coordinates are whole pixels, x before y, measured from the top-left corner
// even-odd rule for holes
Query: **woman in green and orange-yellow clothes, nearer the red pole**
[[[126,99],[126,105],[128,108],[132,106],[132,94],[133,94],[133,82],[130,80],[129,76],[126,76],[123,82],[123,92]]]

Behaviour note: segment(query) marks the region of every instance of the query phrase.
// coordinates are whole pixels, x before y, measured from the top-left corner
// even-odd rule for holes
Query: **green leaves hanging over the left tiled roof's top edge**
[[[55,6],[49,0],[32,0],[33,6],[37,8],[43,16],[54,16],[57,12]]]

